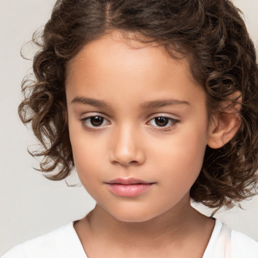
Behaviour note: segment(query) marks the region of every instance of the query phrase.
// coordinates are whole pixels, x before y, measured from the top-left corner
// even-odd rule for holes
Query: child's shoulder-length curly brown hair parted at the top
[[[34,79],[24,79],[19,106],[23,123],[31,123],[43,146],[33,155],[43,157],[45,177],[61,180],[74,168],[64,115],[67,64],[85,44],[113,30],[190,56],[210,113],[221,112],[221,101],[241,93],[237,135],[220,149],[207,146],[190,196],[210,208],[231,208],[252,197],[258,181],[258,69],[241,13],[228,0],[58,0],[40,40],[34,34],[40,46]]]

